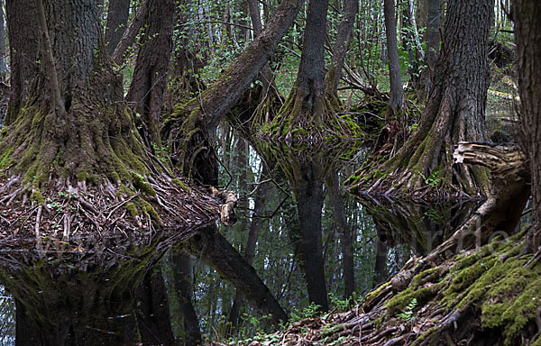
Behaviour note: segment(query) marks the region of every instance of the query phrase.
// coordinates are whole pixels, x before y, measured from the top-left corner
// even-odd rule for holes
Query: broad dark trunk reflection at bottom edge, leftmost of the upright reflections
[[[172,345],[169,299],[160,269],[144,275],[136,293],[137,324],[143,345]]]

